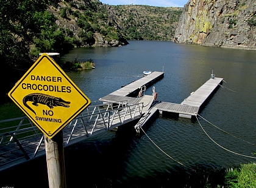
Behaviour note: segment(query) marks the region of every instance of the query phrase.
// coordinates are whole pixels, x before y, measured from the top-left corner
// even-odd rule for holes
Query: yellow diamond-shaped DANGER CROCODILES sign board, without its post
[[[91,103],[47,53],[37,59],[8,95],[49,138]]]

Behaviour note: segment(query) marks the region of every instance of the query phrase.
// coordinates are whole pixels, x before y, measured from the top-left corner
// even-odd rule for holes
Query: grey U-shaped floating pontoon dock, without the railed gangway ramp
[[[152,84],[152,82],[155,82],[161,78],[163,78],[162,72],[153,72],[148,76],[144,76],[143,78],[138,79],[137,81],[132,82],[127,86],[124,86],[121,89],[118,89],[115,92],[100,98],[99,101],[127,101],[129,104],[135,104],[136,102],[141,101],[141,99],[133,98],[130,96],[135,96],[135,93],[138,94],[141,87],[148,87],[149,84]],[[182,101],[180,104],[171,102],[158,102],[154,108],[158,109],[160,113],[171,113],[174,116],[177,115],[183,118],[191,118],[192,116],[196,116],[199,110],[201,110],[200,108],[205,103],[205,101],[207,101],[207,99],[215,92],[219,84],[222,84],[222,80],[223,78],[215,78],[215,76],[212,75],[207,82],[205,82],[195,92],[192,92],[190,96],[184,99],[184,101]]]

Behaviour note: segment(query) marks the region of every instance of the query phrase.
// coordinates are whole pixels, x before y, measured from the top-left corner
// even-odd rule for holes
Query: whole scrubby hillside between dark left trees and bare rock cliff
[[[51,6],[56,24],[76,46],[118,46],[128,39],[169,40],[182,8],[107,5],[98,0],[61,1]]]

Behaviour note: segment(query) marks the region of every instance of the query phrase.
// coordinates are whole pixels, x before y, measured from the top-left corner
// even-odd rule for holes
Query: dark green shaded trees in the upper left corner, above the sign
[[[44,25],[44,10],[59,0],[0,0],[0,60],[2,66],[28,66],[29,51]]]

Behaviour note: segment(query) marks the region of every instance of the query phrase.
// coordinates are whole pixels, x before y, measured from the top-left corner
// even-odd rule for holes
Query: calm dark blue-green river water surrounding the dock
[[[146,187],[154,183],[160,185],[163,181],[166,184],[172,181],[174,187],[179,184],[185,187],[179,178],[171,179],[181,173],[177,169],[230,168],[256,161],[246,157],[256,152],[255,51],[163,41],[129,42],[123,47],[72,50],[63,56],[63,61],[92,59],[96,69],[67,72],[68,76],[91,101],[98,101],[121,86],[140,79],[144,70],[164,69],[165,77],[154,84],[157,99],[180,103],[204,84],[214,69],[216,77],[224,78],[223,86],[228,89],[219,87],[200,115],[249,143],[199,118],[205,132],[225,150],[208,138],[197,121],[159,117],[145,128],[145,132],[175,160],[161,152],[144,134],[135,136],[129,129],[105,132],[65,149],[68,187]],[[152,87],[146,93],[151,95]],[[21,176],[24,181],[18,185],[33,187],[31,179],[38,178],[38,186],[48,186],[45,158],[5,173],[6,176],[13,174]],[[1,186],[12,186],[12,183],[7,183]]]

